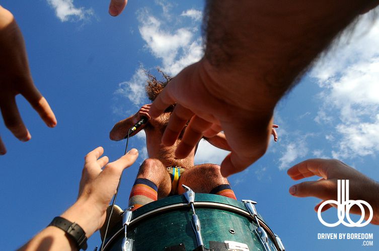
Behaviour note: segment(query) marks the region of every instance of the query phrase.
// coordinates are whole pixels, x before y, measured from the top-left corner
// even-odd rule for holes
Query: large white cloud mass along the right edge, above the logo
[[[324,105],[315,121],[334,123],[333,158],[373,155],[379,151],[379,22],[369,15],[311,71]],[[328,139],[328,138],[327,138]]]

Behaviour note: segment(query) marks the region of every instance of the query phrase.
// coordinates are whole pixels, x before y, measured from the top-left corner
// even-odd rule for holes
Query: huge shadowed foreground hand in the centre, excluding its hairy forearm
[[[177,102],[162,138],[166,146],[175,143],[191,119],[176,150],[177,158],[188,156],[203,136],[210,138],[223,131],[232,149],[221,164],[225,177],[244,170],[266,152],[275,105],[265,105],[268,100],[261,95],[262,90],[252,91],[242,81],[231,86],[239,82],[231,78],[235,76],[216,71],[202,59],[174,77],[149,110],[155,118]]]

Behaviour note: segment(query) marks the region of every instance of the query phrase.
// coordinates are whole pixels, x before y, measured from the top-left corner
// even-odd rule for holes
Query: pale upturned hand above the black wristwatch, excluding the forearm
[[[62,217],[78,222],[83,229],[87,228],[85,231],[89,236],[104,224],[106,210],[116,192],[122,171],[138,157],[138,151],[132,149],[120,159],[108,163],[107,156],[100,158],[103,153],[103,148],[98,147],[85,157],[78,201],[62,214]],[[84,208],[89,217],[81,216]]]

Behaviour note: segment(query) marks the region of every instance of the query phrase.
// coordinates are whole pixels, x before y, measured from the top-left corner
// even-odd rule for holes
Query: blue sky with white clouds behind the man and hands
[[[22,97],[22,118],[32,139],[19,142],[0,122],[8,153],[0,157],[1,246],[12,250],[43,229],[75,202],[84,156],[98,146],[111,161],[125,142],[112,142],[113,124],[148,103],[141,65],[177,74],[202,56],[203,1],[129,1],[119,17],[108,1],[1,1],[25,38],[37,88],[48,100],[58,124],[47,128]],[[379,23],[368,13],[354,33],[310,70],[275,110],[279,140],[242,173],[229,178],[239,200],[258,202],[257,210],[278,234],[286,250],[377,250],[377,226],[361,228],[321,224],[317,198],[294,198],[296,182],[286,170],[309,158],[337,158],[379,180]],[[138,166],[146,158],[144,134],[130,140],[140,155],[124,171],[116,204],[127,206]],[[220,164],[226,152],[202,142],[196,163]],[[315,180],[308,178],[307,180]],[[335,222],[337,210],[324,213]],[[373,233],[362,240],[318,239],[318,233]],[[95,233],[89,250],[100,244]]]

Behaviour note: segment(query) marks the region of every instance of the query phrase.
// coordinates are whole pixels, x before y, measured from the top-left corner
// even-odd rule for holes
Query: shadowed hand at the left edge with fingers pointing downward
[[[50,128],[56,119],[46,99],[33,84],[24,38],[13,15],[0,6],[0,108],[6,127],[20,141],[31,135],[21,119],[15,96],[22,94]],[[7,150],[0,138],[0,155]]]

